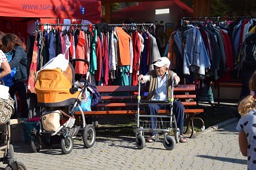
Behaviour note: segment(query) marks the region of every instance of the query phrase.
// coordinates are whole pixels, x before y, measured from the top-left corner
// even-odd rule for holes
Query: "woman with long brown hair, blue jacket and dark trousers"
[[[16,68],[14,75],[14,85],[11,86],[9,93],[14,98],[15,93],[20,97],[22,110],[21,118],[27,118],[27,90],[25,81],[27,81],[27,54],[24,50],[24,43],[15,34],[5,34],[2,37],[2,50],[4,53],[12,52],[13,59],[9,62],[11,69]],[[13,118],[17,118],[17,111]]]

